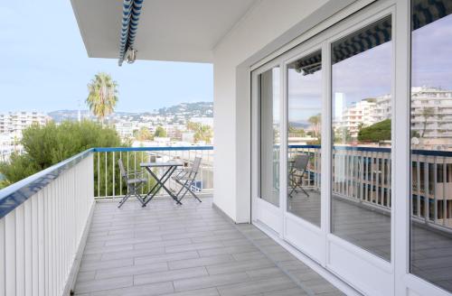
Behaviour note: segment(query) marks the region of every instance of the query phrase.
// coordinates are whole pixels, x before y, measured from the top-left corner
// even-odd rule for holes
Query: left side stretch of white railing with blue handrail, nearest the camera
[[[61,295],[93,208],[87,151],[0,191],[0,295]]]

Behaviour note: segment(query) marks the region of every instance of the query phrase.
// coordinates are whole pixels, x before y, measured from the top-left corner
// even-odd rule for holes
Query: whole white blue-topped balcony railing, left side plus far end
[[[131,169],[155,157],[188,164],[195,156],[203,159],[196,186],[212,190],[212,146],[93,148],[0,190],[0,296],[70,293],[96,199],[127,190],[118,158]]]

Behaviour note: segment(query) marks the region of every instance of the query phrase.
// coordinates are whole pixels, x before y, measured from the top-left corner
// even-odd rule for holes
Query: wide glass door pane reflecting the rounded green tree
[[[332,65],[332,232],[390,261],[391,16],[334,42]]]

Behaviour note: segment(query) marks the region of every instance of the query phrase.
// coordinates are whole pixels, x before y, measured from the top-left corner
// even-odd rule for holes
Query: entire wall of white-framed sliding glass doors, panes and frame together
[[[452,1],[352,15],[252,72],[253,222],[363,294],[447,295]]]

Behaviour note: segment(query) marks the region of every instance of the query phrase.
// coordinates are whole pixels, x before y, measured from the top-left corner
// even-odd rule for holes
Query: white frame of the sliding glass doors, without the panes
[[[355,13],[351,11],[348,15]],[[331,234],[331,153],[332,153],[332,89],[331,89],[331,43],[341,37],[358,30],[382,17],[392,16],[392,149],[391,149],[391,262],[363,250],[344,239]],[[347,15],[347,14],[346,14]],[[447,291],[438,288],[418,276],[410,273],[410,0],[381,0],[364,7],[361,11],[344,19],[343,22],[320,32],[315,37],[295,48],[288,48],[285,53],[276,55],[274,60],[267,61],[263,66],[251,71],[251,202],[252,221],[262,220],[260,216],[266,215],[261,209],[271,212],[280,222],[272,221],[270,227],[290,245],[315,260],[319,266],[334,273],[344,282],[348,282],[356,290],[369,295],[449,295]],[[322,25],[320,23],[319,25]],[[281,44],[281,47],[284,47]],[[303,57],[316,49],[322,49],[322,66],[324,80],[324,95],[322,106],[322,162],[321,162],[321,227],[315,227],[300,217],[287,213],[287,63]],[[265,58],[264,60],[266,60]],[[259,64],[259,63],[258,63]],[[274,66],[280,67],[280,176],[279,176],[279,208],[257,198],[257,157],[259,155],[256,143],[257,124],[257,75]],[[397,99],[396,99],[397,98]],[[260,212],[259,212],[260,210]],[[265,218],[264,218],[265,219]],[[312,254],[303,244],[295,241],[287,233],[287,222],[295,221],[297,225],[314,231],[321,237],[321,255]],[[263,222],[263,221],[261,221]],[[257,222],[258,227],[262,223]],[[275,226],[276,225],[276,226]],[[276,230],[275,230],[276,229]],[[304,255],[298,256],[300,259]],[[358,272],[354,272],[358,271]]]

